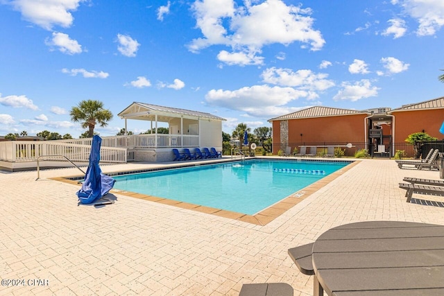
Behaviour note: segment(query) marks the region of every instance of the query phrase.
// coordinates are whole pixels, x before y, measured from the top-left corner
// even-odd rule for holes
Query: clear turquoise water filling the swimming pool
[[[253,159],[115,176],[115,189],[253,215],[350,162]]]

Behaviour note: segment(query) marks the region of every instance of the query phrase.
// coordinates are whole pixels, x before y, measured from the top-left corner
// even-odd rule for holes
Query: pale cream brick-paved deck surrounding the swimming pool
[[[444,207],[407,203],[398,188],[403,177],[438,171],[388,159],[361,159],[263,225],[117,192],[114,204],[77,206],[79,185],[51,179],[70,175],[78,171],[41,171],[37,181],[35,171],[0,173],[0,279],[20,280],[0,295],[238,295],[242,284],[280,281],[311,295],[313,277],[298,271],[290,247],[358,221],[444,225]]]

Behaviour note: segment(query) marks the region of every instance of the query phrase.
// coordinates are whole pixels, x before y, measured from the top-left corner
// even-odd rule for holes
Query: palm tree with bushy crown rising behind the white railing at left
[[[94,128],[99,123],[103,128],[108,125],[107,121],[112,119],[110,110],[103,109],[101,101],[87,100],[81,101],[76,107],[71,108],[69,112],[71,121],[82,123],[82,128],[88,128],[88,136],[94,135]]]

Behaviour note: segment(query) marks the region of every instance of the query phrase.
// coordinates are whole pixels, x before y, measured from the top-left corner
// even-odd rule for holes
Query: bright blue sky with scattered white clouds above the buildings
[[[444,95],[442,0],[0,0],[0,135],[85,132],[69,110],[133,102],[270,126],[314,105]],[[149,128],[128,121],[136,134]]]

